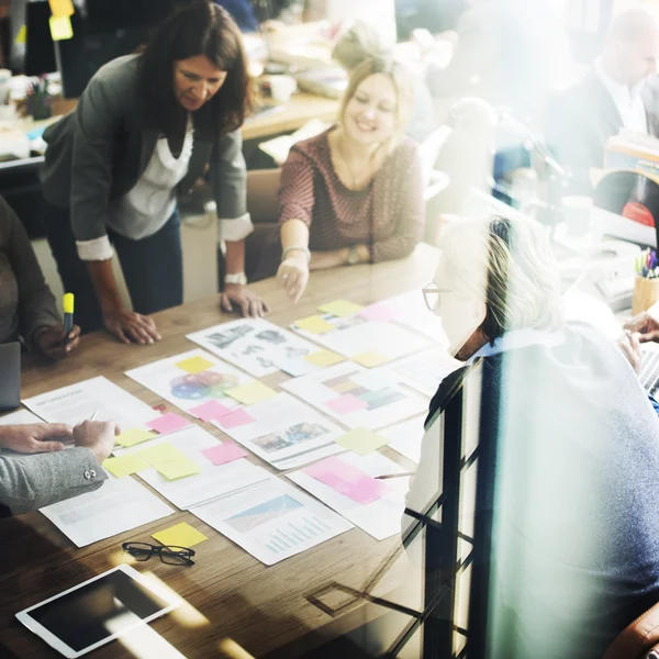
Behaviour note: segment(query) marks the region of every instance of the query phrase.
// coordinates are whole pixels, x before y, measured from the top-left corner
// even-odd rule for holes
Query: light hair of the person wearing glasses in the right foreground
[[[446,228],[440,247],[451,290],[480,298],[484,291],[481,330],[489,342],[511,330],[562,327],[558,265],[536,222],[465,219]]]

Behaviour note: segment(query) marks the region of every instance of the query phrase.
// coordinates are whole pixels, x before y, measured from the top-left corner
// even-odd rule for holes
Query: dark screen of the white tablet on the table
[[[32,608],[30,616],[76,652],[170,608],[122,570]]]

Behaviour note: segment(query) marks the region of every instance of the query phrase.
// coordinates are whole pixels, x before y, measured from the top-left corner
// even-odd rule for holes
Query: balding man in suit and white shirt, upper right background
[[[547,144],[572,170],[572,191],[592,191],[590,169],[604,165],[606,141],[621,129],[659,136],[659,26],[645,9],[618,14],[602,56],[547,107]]]

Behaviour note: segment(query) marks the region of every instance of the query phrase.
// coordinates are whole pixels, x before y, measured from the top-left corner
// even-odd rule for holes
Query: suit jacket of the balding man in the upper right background
[[[648,133],[659,137],[659,83],[646,83],[641,90]],[[589,170],[604,166],[606,141],[617,135],[623,120],[614,100],[594,69],[577,85],[557,93],[547,108],[547,145],[557,160],[570,167],[572,191],[592,191]]]

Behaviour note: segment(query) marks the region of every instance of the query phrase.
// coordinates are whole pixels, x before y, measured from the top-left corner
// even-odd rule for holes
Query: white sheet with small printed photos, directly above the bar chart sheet
[[[254,422],[223,428],[277,469],[291,469],[344,450],[334,440],[345,431],[288,393],[244,407]]]

